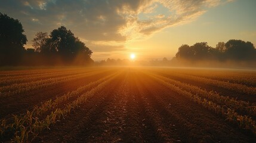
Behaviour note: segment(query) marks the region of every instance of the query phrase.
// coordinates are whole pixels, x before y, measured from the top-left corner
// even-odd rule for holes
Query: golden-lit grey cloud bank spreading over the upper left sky
[[[17,18],[31,45],[36,32],[66,26],[92,51],[124,50],[166,27],[195,20],[210,7],[232,0],[8,0],[0,12]]]

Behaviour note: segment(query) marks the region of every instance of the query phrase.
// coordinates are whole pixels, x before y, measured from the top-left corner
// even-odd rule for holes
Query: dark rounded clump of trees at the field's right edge
[[[198,42],[192,46],[181,45],[175,55],[176,60],[187,61],[239,61],[255,62],[256,49],[251,42],[231,39],[218,42],[215,48],[207,42]]]

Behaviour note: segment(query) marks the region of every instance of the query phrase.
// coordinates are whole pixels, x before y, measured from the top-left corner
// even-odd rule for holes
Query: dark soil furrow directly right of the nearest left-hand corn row
[[[118,76],[101,92],[90,97],[66,119],[54,125],[51,130],[45,130],[36,142],[92,142],[104,132],[102,119],[106,118],[106,110],[112,106],[113,92],[122,81]],[[60,131],[61,130],[61,131]],[[50,138],[48,138],[51,136]],[[40,139],[41,138],[41,139]]]

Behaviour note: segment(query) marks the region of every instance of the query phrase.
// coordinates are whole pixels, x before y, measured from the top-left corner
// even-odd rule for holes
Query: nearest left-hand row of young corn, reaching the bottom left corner
[[[118,76],[118,73],[103,77],[102,79],[76,89],[76,91],[58,97],[54,101],[50,100],[44,102],[40,107],[35,106],[32,111],[27,111],[26,114],[20,116],[16,115],[9,120],[1,120],[1,138],[11,136],[13,142],[32,141],[39,132],[43,129],[50,129],[50,125],[58,122],[58,120],[69,114],[71,110],[78,108],[79,105],[87,101],[88,97],[93,96],[96,92],[103,89],[104,86],[116,76]],[[90,91],[84,92],[86,88],[91,89]],[[84,92],[84,94],[82,94],[82,92]],[[69,101],[69,98],[71,97],[77,98],[68,104],[64,104],[63,108],[55,108],[64,101]],[[45,113],[49,114],[42,116],[42,114]]]

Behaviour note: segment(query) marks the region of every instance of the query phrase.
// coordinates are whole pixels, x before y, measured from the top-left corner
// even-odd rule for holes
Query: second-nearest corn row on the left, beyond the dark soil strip
[[[90,73],[81,73],[81,74],[75,74],[71,76],[64,76],[64,77],[56,77],[53,79],[44,79],[44,80],[38,80],[35,82],[29,82],[29,83],[20,83],[20,84],[14,84],[11,86],[4,86],[0,88],[0,97],[8,97],[11,95],[21,94],[28,91],[33,91],[36,89],[46,88],[48,86],[57,85],[59,83],[67,82],[70,80],[80,79],[87,76],[92,76],[93,74],[98,74],[103,71],[92,71]]]

